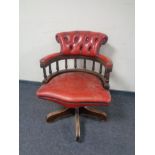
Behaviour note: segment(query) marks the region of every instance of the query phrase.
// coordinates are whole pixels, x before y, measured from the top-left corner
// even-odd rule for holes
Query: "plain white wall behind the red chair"
[[[57,32],[72,30],[107,34],[111,89],[135,90],[134,0],[20,0],[19,78],[42,81],[40,58],[59,51]]]

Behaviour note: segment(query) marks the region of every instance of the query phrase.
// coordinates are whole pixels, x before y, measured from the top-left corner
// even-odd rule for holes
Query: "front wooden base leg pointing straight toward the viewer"
[[[79,108],[75,109],[75,133],[76,133],[76,141],[80,140],[80,115]]]

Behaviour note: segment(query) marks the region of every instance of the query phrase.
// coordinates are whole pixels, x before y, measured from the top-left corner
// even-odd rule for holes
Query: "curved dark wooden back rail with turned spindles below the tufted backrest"
[[[68,67],[68,60],[73,59],[74,61],[74,68],[69,68]],[[82,59],[83,60],[83,68],[79,68],[77,65],[77,60]],[[59,61],[64,60],[65,61],[65,69],[60,69],[59,67]],[[92,61],[92,66],[91,69],[88,69],[87,67],[87,60]],[[99,63],[99,70],[98,72],[95,71],[95,64]],[[51,64],[56,63],[56,72],[52,71]],[[43,74],[44,74],[44,80],[43,83],[48,83],[53,77],[66,73],[66,72],[87,72],[89,74],[93,74],[97,76],[103,86],[106,89],[109,89],[109,74],[112,71],[112,68],[107,68],[105,63],[98,57],[92,57],[92,56],[83,56],[83,55],[59,55],[51,60],[49,60],[46,64],[41,63],[40,64],[41,68],[43,68]],[[104,70],[104,75],[102,75],[103,67],[105,68]]]

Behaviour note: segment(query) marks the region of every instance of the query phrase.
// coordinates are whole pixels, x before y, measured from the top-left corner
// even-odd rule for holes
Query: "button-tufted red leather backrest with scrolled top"
[[[71,31],[57,33],[56,40],[61,45],[61,53],[65,55],[95,56],[108,37],[99,32]]]

